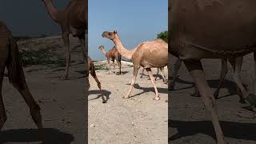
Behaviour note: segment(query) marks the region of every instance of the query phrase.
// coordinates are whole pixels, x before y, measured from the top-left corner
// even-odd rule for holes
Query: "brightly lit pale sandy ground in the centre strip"
[[[101,63],[96,62],[96,65]],[[129,90],[133,67],[122,62],[122,75],[111,71],[108,74],[107,70],[97,70],[103,93],[109,97],[105,104],[98,97],[96,82],[90,77],[89,143],[167,143],[167,85],[158,78],[161,99],[154,101],[154,87],[147,76],[139,78],[141,69],[131,98],[124,99],[122,96]],[[167,70],[164,74],[167,75]]]

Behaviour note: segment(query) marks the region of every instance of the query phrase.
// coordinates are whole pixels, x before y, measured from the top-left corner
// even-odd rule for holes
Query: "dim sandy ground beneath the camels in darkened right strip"
[[[176,58],[172,58],[172,64]],[[250,71],[254,67],[253,55],[249,54],[243,60],[241,78],[244,86],[251,90],[252,76]],[[202,60],[206,72],[206,79],[213,92],[218,86],[221,71],[220,59]],[[174,66],[174,65],[172,65]],[[202,143],[214,144],[214,128],[210,122],[210,114],[202,103],[202,99],[192,97],[193,79],[184,64],[179,71],[176,87],[170,92],[169,106],[169,140],[170,143]],[[225,139],[232,144],[256,143],[256,114],[246,109],[246,104],[239,103],[233,72],[229,64],[229,72],[220,91],[217,103],[218,118],[222,126]]]

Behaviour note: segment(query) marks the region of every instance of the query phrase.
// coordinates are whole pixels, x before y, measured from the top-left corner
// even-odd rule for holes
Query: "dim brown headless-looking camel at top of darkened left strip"
[[[58,23],[62,28],[62,39],[64,42],[66,54],[66,70],[62,79],[69,78],[70,70],[70,40],[69,35],[79,38],[83,46],[83,55],[86,54],[85,47],[85,30],[87,30],[87,14],[85,18],[85,7],[87,2],[84,0],[71,0],[64,10],[57,10],[52,0],[42,0],[50,18]]]

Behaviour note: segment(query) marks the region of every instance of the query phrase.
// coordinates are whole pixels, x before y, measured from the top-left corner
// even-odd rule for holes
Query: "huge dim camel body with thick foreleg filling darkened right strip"
[[[251,14],[256,12],[256,2],[173,0],[169,5],[169,52],[178,55],[190,71],[206,110],[210,112],[217,143],[224,144],[215,98],[206,82],[200,60],[236,59],[255,51],[256,16]],[[238,64],[235,62],[235,65]],[[254,97],[255,90],[254,78]]]

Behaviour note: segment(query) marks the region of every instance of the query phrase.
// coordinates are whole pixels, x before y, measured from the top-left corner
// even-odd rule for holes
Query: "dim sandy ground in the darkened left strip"
[[[19,41],[20,50],[50,50],[51,54],[64,55],[61,37]],[[70,80],[62,81],[62,66],[27,66],[26,82],[36,102],[42,108],[42,123],[46,128],[48,144],[85,142],[84,65],[76,39],[71,38]],[[41,143],[28,106],[4,78],[2,96],[6,106],[7,122],[0,133],[0,143]]]

